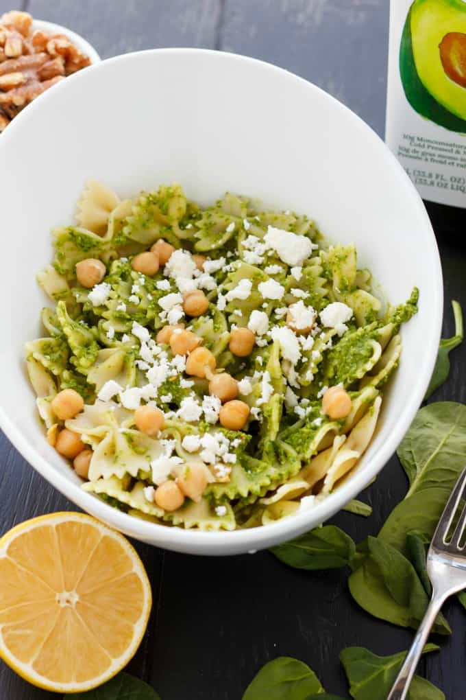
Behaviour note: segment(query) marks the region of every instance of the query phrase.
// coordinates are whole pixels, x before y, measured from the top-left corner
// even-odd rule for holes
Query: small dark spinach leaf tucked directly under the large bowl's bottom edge
[[[270,551],[289,566],[316,570],[346,566],[353,558],[356,546],[340,528],[325,525],[291,542],[272,547]]]

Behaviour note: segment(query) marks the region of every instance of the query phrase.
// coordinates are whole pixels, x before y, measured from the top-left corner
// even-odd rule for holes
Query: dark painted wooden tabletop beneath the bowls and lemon
[[[388,0],[24,0],[22,8],[78,31],[102,58],[162,46],[259,57],[320,85],[384,134]],[[10,0],[0,0],[0,12],[7,9]],[[428,211],[444,269],[444,332],[451,335],[451,298],[466,309],[466,255],[451,242],[456,220],[440,207],[428,205]],[[451,377],[435,400],[466,401],[462,356],[457,350]],[[75,510],[3,435],[0,456],[0,533],[38,514]],[[372,517],[342,513],[333,521],[356,540],[375,534],[406,487],[393,457],[364,495],[374,508]],[[378,622],[358,608],[344,570],[293,570],[268,552],[210,559],[137,548],[152,581],[154,607],[129,671],[153,685],[162,700],[240,700],[258,668],[279,655],[306,661],[329,692],[347,696],[338,660],[343,647],[391,654],[412,639],[412,631]],[[447,699],[460,700],[466,683],[466,613],[453,602],[446,615],[453,636],[441,652],[422,661],[421,672]],[[0,662],[1,700],[54,697]]]

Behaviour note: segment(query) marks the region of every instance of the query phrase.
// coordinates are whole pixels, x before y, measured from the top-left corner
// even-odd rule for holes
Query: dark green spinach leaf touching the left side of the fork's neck
[[[349,577],[349,590],[363,610],[387,622],[417,629],[429,599],[414,566],[398,549],[369,537],[358,545],[351,565],[354,571]],[[433,629],[439,634],[451,633],[442,614]]]

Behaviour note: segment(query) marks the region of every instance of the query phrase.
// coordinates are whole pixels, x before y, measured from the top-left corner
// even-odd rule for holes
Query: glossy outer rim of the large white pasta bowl
[[[412,392],[409,401],[400,407],[400,414],[395,427],[386,442],[379,447],[379,450],[372,457],[364,470],[355,472],[351,477],[351,481],[341,484],[336,491],[331,493],[327,498],[323,499],[314,507],[297,512],[291,517],[286,517],[276,521],[275,523],[259,526],[257,528],[249,528],[245,530],[234,531],[200,531],[196,529],[184,529],[180,527],[170,527],[162,524],[152,523],[143,519],[126,514],[117,508],[104,503],[91,493],[86,493],[80,488],[79,484],[75,484],[71,479],[68,479],[64,473],[56,472],[48,464],[47,459],[24,440],[22,433],[17,426],[10,420],[6,414],[6,410],[0,405],[0,427],[7,435],[8,439],[13,443],[15,448],[20,451],[20,454],[26,459],[31,466],[34,467],[45,479],[52,484],[56,489],[71,500],[75,505],[82,507],[83,510],[89,512],[95,517],[103,520],[115,529],[129,534],[139,540],[148,542],[155,546],[161,546],[166,549],[171,549],[177,552],[185,552],[188,554],[207,554],[212,556],[223,556],[228,554],[254,553],[259,549],[268,548],[278,542],[291,540],[292,538],[304,533],[326,521],[336,512],[342,509],[351,498],[355,498],[358,493],[363,491],[367,484],[381,471],[386,465],[389,458],[401,442],[409,425],[412,423],[414,416],[421,405],[425,391],[428,387],[430,377],[437,358],[437,349],[439,338],[442,330],[443,316],[443,279],[442,266],[439,258],[439,251],[435,234],[432,230],[432,225],[428,217],[428,213],[423,205],[420,195],[414,184],[409,179],[409,176],[403,169],[400,162],[395,158],[395,155],[384,144],[384,141],[379,135],[367,125],[363,119],[356,115],[349,107],[342,104],[332,95],[328,94],[321,87],[310,83],[310,81],[296,76],[286,69],[275,66],[265,61],[255,59],[248,56],[233,54],[229,52],[221,52],[212,49],[201,48],[158,48],[143,51],[130,52],[127,54],[118,55],[103,62],[89,66],[86,71],[78,71],[67,80],[64,80],[60,86],[64,90],[64,85],[68,84],[71,89],[72,81],[86,80],[86,75],[92,74],[91,71],[105,71],[107,66],[111,64],[119,64],[122,62],[131,62],[137,60],[141,56],[152,56],[157,59],[160,56],[182,55],[183,57],[195,57],[198,55],[210,57],[212,60],[224,62],[245,62],[254,64],[263,71],[277,73],[282,78],[286,76],[286,80],[293,80],[297,85],[305,85],[306,90],[311,90],[319,96],[319,99],[324,99],[333,105],[334,109],[339,110],[344,114],[344,118],[351,120],[354,127],[362,130],[365,133],[367,143],[376,146],[380,149],[383,146],[385,153],[386,166],[391,167],[398,177],[405,183],[407,190],[407,199],[412,200],[412,206],[418,211],[418,216],[425,223],[425,231],[430,232],[430,245],[425,246],[425,251],[428,252],[430,265],[435,269],[435,278],[432,279],[432,291],[434,304],[431,305],[430,311],[430,337],[424,339],[424,346],[428,345],[428,361],[425,363],[423,372],[416,374],[413,377]],[[57,90],[57,87],[55,88]],[[13,120],[8,130],[4,132],[0,140],[4,144],[8,139],[15,137],[15,131],[20,128],[24,120],[31,120],[34,115],[34,109],[42,109],[41,105],[45,104],[45,100],[52,99],[53,90],[44,92],[38,99],[32,102],[28,109],[23,110]],[[7,139],[7,141],[5,141]]]

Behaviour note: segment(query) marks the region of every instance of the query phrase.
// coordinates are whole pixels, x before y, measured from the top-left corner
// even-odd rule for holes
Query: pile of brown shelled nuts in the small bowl
[[[91,63],[64,34],[32,29],[29,13],[0,17],[0,132],[39,94]]]

